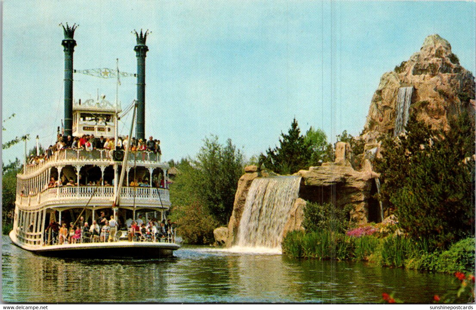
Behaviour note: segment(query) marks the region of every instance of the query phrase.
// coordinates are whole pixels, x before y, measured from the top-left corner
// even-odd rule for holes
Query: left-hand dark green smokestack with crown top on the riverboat
[[[64,47],[64,135],[70,136],[73,134],[73,52],[76,46],[73,37],[78,26],[60,25],[64,30],[64,40],[61,41]]]

